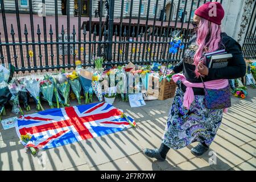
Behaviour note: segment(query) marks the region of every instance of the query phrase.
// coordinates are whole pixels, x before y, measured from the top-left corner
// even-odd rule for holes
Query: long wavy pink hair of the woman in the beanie
[[[205,61],[203,57],[203,51],[205,47],[208,47],[206,52],[217,51],[219,43],[221,42],[221,26],[216,23],[209,22],[207,19],[201,19],[199,27],[197,29],[197,49],[194,56],[194,65],[196,66],[195,73],[198,78],[201,74],[198,72],[198,64],[201,60]],[[209,37],[209,38],[208,38]],[[207,38],[209,39],[208,42]]]

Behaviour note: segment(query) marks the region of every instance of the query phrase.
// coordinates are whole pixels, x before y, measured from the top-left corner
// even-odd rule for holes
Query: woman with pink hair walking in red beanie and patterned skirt
[[[246,65],[241,46],[236,40],[221,32],[221,20],[224,18],[221,3],[208,2],[195,11],[193,25],[195,35],[185,49],[184,57],[172,73],[180,73],[172,78],[177,81],[174,102],[167,119],[166,129],[159,148],[144,150],[150,158],[165,160],[170,148],[180,149],[193,142],[199,142],[191,149],[194,155],[203,155],[209,149],[221,125],[223,109],[208,109],[204,101],[202,81],[212,86],[221,85],[227,79],[245,76]],[[205,53],[225,49],[232,54],[225,68],[208,68],[205,65]],[[180,80],[180,81],[179,81]],[[187,85],[187,86],[186,86]],[[205,86],[207,87],[207,86]],[[193,93],[188,99],[187,92]],[[190,96],[191,97],[191,96]]]

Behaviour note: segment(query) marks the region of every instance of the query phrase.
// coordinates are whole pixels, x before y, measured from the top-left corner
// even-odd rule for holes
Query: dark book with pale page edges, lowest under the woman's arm
[[[210,63],[208,68],[224,68],[228,66],[229,59],[233,56],[231,53],[226,53],[222,55],[212,55],[210,57]]]

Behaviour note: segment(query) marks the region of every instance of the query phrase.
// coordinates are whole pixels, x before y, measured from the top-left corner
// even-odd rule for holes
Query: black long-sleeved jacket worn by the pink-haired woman
[[[188,47],[196,44],[196,36],[193,36],[188,43]],[[236,40],[226,35],[226,33],[221,33],[221,44],[219,49],[225,48],[227,53],[232,53],[233,58],[229,60],[228,67],[225,68],[209,68],[208,76],[203,78],[204,81],[218,80],[218,79],[234,79],[245,76],[246,64],[243,59],[241,46]],[[195,51],[194,51],[195,52]],[[185,54],[186,55],[186,54]],[[189,53],[188,53],[189,55]],[[201,78],[196,78],[195,75],[195,65],[193,62],[193,53],[190,57],[190,61],[187,61],[187,57],[184,56],[181,61],[175,65],[174,72],[179,73],[183,71],[184,76],[189,82],[202,82]],[[182,85],[181,88],[185,90],[185,86]],[[203,95],[204,90],[201,88],[193,88],[196,95]]]

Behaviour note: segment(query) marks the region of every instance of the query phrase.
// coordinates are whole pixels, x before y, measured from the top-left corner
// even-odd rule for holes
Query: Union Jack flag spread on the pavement
[[[20,140],[28,136],[26,147],[52,148],[100,137],[135,126],[131,117],[106,102],[49,109],[24,115],[16,122]]]

